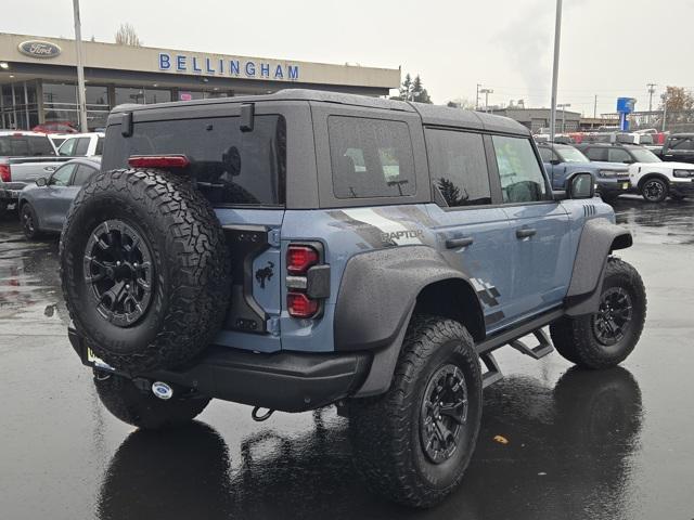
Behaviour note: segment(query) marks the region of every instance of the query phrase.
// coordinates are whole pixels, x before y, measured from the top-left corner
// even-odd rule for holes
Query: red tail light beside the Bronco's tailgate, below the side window
[[[286,308],[290,316],[320,315],[322,301],[330,296],[330,265],[322,263],[320,244],[291,244],[286,250]]]

